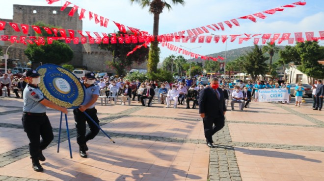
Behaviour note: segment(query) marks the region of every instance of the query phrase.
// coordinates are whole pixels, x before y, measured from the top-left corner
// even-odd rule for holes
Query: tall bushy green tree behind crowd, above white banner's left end
[[[258,75],[266,75],[268,59],[269,57],[263,55],[262,49],[258,45],[254,45],[252,51],[247,52],[239,62],[242,70],[250,74],[254,82]]]

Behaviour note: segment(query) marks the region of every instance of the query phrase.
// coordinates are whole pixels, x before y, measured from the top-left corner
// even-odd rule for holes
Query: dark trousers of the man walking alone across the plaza
[[[225,117],[224,115],[219,115],[218,117],[204,117],[203,123],[206,141],[213,142],[212,136],[224,127]]]

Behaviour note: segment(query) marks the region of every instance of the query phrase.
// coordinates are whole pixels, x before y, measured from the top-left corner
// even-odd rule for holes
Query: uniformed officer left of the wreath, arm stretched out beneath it
[[[43,93],[37,87],[40,83],[40,74],[35,70],[26,73],[27,89],[24,90],[23,126],[29,138],[29,153],[32,160],[32,168],[42,172],[43,167],[39,160],[45,161],[42,153],[53,140],[54,135],[49,118],[46,115],[46,107],[56,109],[67,114],[67,109],[60,107],[44,98]],[[42,140],[40,140],[42,136]]]

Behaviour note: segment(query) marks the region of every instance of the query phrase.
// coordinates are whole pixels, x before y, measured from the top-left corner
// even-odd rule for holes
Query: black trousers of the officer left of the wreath
[[[52,126],[47,115],[31,116],[23,114],[23,127],[29,139],[31,158],[38,158],[40,150],[44,150],[54,139]],[[42,140],[40,140],[42,136]]]

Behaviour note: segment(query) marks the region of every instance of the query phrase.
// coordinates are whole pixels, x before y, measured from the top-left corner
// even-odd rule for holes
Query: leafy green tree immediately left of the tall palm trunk
[[[118,37],[122,32],[117,32]],[[126,32],[129,35],[133,33],[130,31]],[[149,51],[148,47],[142,46],[137,49],[134,53],[127,56],[128,52],[132,51],[137,44],[103,44],[99,45],[99,48],[110,51],[112,53],[112,60],[106,62],[109,68],[116,70],[117,75],[121,76],[125,74],[125,68],[131,68],[133,63],[141,64],[145,62]]]

